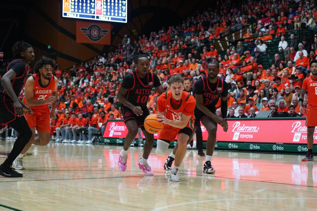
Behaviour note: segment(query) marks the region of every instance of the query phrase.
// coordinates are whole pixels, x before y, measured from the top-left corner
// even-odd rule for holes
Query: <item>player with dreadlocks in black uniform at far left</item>
[[[34,50],[29,43],[16,42],[13,47],[13,61],[6,68],[0,83],[0,123],[8,124],[19,133],[8,158],[0,165],[0,175],[4,177],[23,177],[23,174],[11,168],[13,161],[29,142],[32,131],[23,116],[23,110],[29,115],[32,109],[18,98],[26,80],[26,67],[34,60]]]

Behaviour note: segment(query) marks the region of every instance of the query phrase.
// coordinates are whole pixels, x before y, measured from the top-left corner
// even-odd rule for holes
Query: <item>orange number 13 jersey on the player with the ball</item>
[[[161,94],[158,98],[158,111],[166,111],[165,117],[173,121],[180,120],[182,114],[191,116],[190,120],[195,119],[195,106],[196,100],[194,96],[185,91],[183,91],[181,100],[179,102],[174,100],[171,90]]]

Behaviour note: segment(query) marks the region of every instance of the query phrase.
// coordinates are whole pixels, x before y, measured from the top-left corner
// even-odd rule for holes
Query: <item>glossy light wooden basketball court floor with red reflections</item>
[[[0,141],[1,162],[13,144]],[[181,182],[171,183],[166,157],[155,149],[148,161],[154,176],[137,167],[140,147],[119,171],[121,147],[32,146],[24,177],[0,177],[0,210],[317,210],[317,161],[301,162],[304,154],[216,151],[216,173],[205,175],[204,157],[188,150]]]

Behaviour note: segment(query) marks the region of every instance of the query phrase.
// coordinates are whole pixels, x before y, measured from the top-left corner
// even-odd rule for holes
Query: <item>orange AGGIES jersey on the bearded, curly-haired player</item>
[[[40,74],[33,74],[30,77],[34,79],[34,100],[46,100],[49,96],[52,95],[52,92],[55,89],[55,76],[51,75],[49,80],[49,84],[43,86],[40,79]],[[23,103],[26,104],[25,98],[23,97]],[[27,104],[26,104],[27,105]],[[48,104],[44,104],[41,106],[29,106],[31,109],[46,109],[48,108]]]

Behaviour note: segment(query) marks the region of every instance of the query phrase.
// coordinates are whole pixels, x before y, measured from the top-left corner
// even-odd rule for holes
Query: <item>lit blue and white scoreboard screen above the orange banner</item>
[[[62,16],[126,23],[126,0],[62,0]]]

